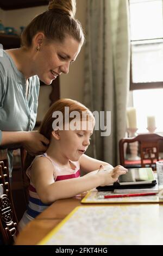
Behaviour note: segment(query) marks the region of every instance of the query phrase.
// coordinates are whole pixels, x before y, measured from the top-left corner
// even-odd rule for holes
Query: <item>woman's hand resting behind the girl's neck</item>
[[[38,131],[26,132],[23,147],[32,156],[43,154],[47,150],[49,140]]]

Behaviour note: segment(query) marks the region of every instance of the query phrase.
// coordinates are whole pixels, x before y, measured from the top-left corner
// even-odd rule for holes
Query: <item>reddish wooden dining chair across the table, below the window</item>
[[[160,143],[163,141],[163,137],[155,134],[155,133],[145,133],[137,135],[132,138],[123,138],[120,139],[119,142],[119,150],[120,150],[120,164],[124,167],[127,166],[127,161],[125,157],[126,148],[125,143],[138,143],[138,153],[140,155],[140,161],[134,161],[134,165],[140,164],[140,167],[151,167],[153,170],[156,169],[156,161],[159,161],[159,151],[160,151]],[[130,163],[132,164],[132,163]],[[135,167],[133,165],[133,167]],[[136,166],[139,167],[139,166]],[[131,168],[131,166],[130,166]]]

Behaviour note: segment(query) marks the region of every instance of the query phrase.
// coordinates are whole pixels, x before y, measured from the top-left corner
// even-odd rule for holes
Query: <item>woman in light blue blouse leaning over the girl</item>
[[[67,74],[84,42],[74,19],[75,0],[54,0],[48,11],[35,17],[21,36],[21,48],[2,51],[0,58],[0,146],[23,145],[31,155],[47,149],[48,139],[32,132],[37,112],[39,79],[51,84]],[[8,149],[9,171],[12,150]]]

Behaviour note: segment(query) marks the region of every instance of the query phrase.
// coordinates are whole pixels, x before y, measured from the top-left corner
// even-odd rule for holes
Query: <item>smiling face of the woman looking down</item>
[[[43,42],[35,55],[35,74],[45,84],[51,84],[61,73],[67,74],[69,66],[76,60],[81,45],[71,36],[64,42]]]

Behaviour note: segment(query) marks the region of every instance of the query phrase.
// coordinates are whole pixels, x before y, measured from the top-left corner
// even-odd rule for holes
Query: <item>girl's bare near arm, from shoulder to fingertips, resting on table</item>
[[[53,164],[46,157],[39,157],[33,163],[31,179],[41,201],[50,204],[55,200],[74,197],[94,187],[113,183],[124,173],[126,169],[118,166],[111,172],[101,169],[98,173],[89,173],[80,178],[54,182]]]

